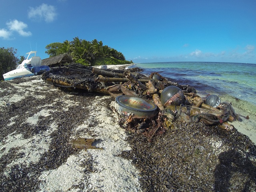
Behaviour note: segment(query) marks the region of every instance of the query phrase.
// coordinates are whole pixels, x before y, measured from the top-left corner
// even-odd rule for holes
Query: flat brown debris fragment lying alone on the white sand
[[[92,143],[97,141],[96,139],[88,139],[88,138],[77,138],[73,139],[68,144],[72,145],[75,149],[103,149],[93,146]]]

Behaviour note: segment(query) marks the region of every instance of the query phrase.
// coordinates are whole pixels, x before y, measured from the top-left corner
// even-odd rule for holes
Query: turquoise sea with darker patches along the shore
[[[222,101],[256,112],[256,64],[224,62],[160,62],[140,63],[139,67],[150,74],[158,72],[183,85],[196,88],[200,96],[216,94]]]

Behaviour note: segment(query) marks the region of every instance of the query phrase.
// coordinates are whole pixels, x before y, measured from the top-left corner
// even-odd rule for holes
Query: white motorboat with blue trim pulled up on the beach
[[[48,66],[41,66],[42,60],[36,56],[36,51],[30,51],[26,54],[28,54],[27,58],[16,69],[3,74],[4,80],[34,76],[50,70]]]

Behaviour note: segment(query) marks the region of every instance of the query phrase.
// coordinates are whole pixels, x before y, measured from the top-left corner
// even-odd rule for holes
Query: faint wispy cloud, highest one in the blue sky
[[[39,7],[30,7],[28,10],[28,18],[34,20],[44,20],[45,22],[52,22],[57,16],[55,7],[48,4],[42,4]]]

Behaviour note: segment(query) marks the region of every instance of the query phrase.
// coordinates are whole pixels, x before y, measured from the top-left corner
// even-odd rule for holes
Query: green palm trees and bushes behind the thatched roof
[[[71,42],[68,40],[63,43],[55,42],[48,44],[45,48],[45,53],[50,57],[68,53],[74,62],[86,66],[131,63],[125,60],[121,52],[103,45],[102,41],[97,41],[96,39],[90,42],[75,37]]]

